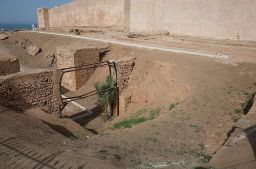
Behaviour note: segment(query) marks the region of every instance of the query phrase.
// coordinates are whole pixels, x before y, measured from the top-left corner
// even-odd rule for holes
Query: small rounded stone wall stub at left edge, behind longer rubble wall
[[[0,54],[0,76],[19,72],[19,61],[9,54]]]

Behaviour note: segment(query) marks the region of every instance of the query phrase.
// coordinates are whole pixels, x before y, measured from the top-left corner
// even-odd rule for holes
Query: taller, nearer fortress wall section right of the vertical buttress
[[[255,0],[131,0],[131,31],[256,40]]]

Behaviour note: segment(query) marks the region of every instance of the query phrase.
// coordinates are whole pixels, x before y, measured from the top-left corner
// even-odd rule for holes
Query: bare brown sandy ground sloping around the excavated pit
[[[36,57],[28,56],[22,45],[13,45],[13,41],[20,38],[28,38],[33,45],[40,46],[42,52]],[[166,37],[165,40],[168,39]],[[57,45],[74,43],[87,45],[97,42],[18,32],[0,41],[0,50],[16,56],[24,69],[43,68],[48,67],[51,58],[47,59],[46,56],[55,53]],[[154,41],[158,45],[163,43]],[[178,45],[179,40],[175,43]],[[132,103],[127,113],[103,123],[97,98],[80,100],[79,104],[89,107],[94,115],[78,121],[82,127],[91,131],[88,132],[90,134],[80,135],[78,139],[58,134],[50,128],[54,126],[49,122],[42,123],[24,112],[16,113],[1,108],[0,156],[3,159],[0,163],[4,168],[29,168],[36,165],[38,168],[207,166],[210,156],[222,146],[237,120],[246,116],[244,108],[256,91],[255,43],[223,43],[220,40],[194,38],[186,46],[188,49],[201,46],[204,51],[209,49],[209,44],[214,49],[240,47],[235,59],[222,60],[112,45],[112,50],[106,53],[103,61],[125,56],[136,58],[127,89],[132,93]],[[241,49],[239,44],[247,46]],[[106,76],[100,69],[96,73],[86,86],[75,93],[67,91],[65,94],[79,94],[93,89],[93,82]],[[174,103],[180,104],[169,110],[169,106]],[[78,112],[72,108],[65,110],[67,116]],[[152,113],[154,119],[132,128],[113,128],[115,123],[125,118],[149,117]],[[55,125],[61,128],[61,123]],[[87,138],[87,135],[90,137]],[[31,148],[31,151],[17,147],[19,144]],[[252,149],[256,148],[252,146]],[[46,153],[47,157],[33,155],[37,151]],[[252,158],[255,160],[255,157]]]

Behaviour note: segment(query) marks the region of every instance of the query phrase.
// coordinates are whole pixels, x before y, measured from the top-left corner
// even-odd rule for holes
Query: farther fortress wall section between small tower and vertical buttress
[[[123,0],[78,0],[49,9],[50,27],[122,26]]]

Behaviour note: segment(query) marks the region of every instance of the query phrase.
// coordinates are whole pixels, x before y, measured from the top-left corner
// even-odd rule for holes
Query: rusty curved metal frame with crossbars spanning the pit
[[[62,72],[61,72],[61,76],[60,76],[60,80],[59,80],[59,94],[60,94],[60,100],[61,100],[61,104],[59,105],[59,117],[63,118],[62,116],[62,110],[68,105],[69,102],[72,101],[76,101],[76,100],[80,100],[80,99],[85,99],[88,98],[90,96],[96,95],[98,93],[101,92],[105,92],[108,90],[112,90],[112,89],[116,89],[117,90],[117,101],[116,101],[116,107],[117,107],[117,115],[119,115],[119,90],[117,87],[117,83],[115,87],[111,87],[105,90],[101,90],[101,91],[91,91],[82,95],[78,95],[78,96],[72,96],[69,98],[62,98],[61,96],[61,83],[62,83],[62,79],[64,74],[72,72],[72,71],[79,71],[79,70],[84,70],[84,69],[89,69],[89,68],[97,68],[97,67],[104,67],[104,66],[109,66],[109,71],[110,71],[110,76],[111,77],[115,77],[116,78],[116,82],[117,82],[117,68],[116,68],[116,63],[115,62],[110,62],[110,61],[105,61],[105,62],[99,62],[99,63],[93,63],[93,64],[85,64],[85,65],[81,65],[81,66],[74,66],[74,67],[69,67],[69,68],[62,68]],[[113,69],[113,71],[112,71]],[[111,110],[113,112],[114,110],[114,106],[111,105]]]

